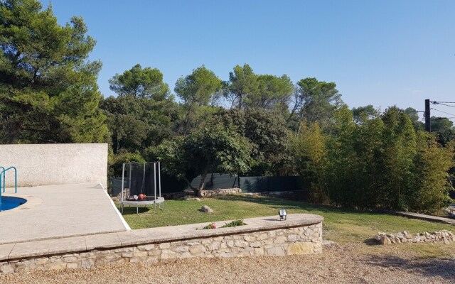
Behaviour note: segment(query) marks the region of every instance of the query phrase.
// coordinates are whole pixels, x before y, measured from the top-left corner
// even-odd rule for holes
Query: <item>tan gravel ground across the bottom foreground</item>
[[[375,248],[373,254],[368,251],[365,244],[331,245],[311,256],[203,258],[36,271],[0,275],[0,283],[455,283],[453,255],[422,259],[392,246]]]

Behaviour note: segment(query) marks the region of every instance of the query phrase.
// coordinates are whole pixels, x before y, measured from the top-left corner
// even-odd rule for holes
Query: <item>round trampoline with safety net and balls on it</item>
[[[164,209],[159,162],[123,164],[119,204],[122,214],[125,205],[135,206],[137,214],[139,214],[139,206],[146,207],[153,204],[156,210],[156,204],[158,204],[159,209]]]

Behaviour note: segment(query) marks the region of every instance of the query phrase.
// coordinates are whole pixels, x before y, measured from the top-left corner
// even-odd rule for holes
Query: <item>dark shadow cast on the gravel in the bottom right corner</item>
[[[424,260],[407,259],[399,256],[371,256],[365,261],[369,266],[402,269],[423,277],[439,276],[455,280],[455,261],[449,258],[428,258]],[[447,282],[454,283],[454,282]]]

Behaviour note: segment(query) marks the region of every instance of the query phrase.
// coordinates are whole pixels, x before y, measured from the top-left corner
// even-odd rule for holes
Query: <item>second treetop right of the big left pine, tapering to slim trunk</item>
[[[207,106],[210,100],[216,100],[215,97],[219,96],[218,91],[221,86],[221,80],[204,65],[193,70],[190,75],[177,80],[174,91],[182,99],[185,109],[183,133],[188,133],[191,124],[195,124],[198,111],[205,112],[201,110],[206,108],[201,109],[201,107]]]

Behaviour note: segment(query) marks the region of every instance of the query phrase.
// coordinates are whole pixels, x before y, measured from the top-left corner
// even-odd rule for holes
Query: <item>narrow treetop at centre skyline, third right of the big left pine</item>
[[[225,98],[231,102],[231,108],[237,104],[238,109],[244,106],[243,100],[250,94],[257,93],[259,82],[250,65],[235,65],[234,72],[229,72],[229,82],[225,89]]]

